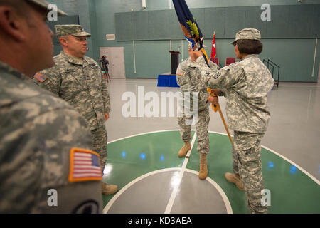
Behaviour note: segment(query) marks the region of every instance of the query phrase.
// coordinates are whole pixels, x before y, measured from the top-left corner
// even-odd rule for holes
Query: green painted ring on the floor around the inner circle
[[[194,133],[194,132],[193,132]],[[248,213],[245,192],[225,180],[232,172],[231,144],[228,136],[209,133],[210,153],[208,176],[217,182],[227,195],[233,213]],[[148,172],[182,167],[184,158],[177,156],[183,142],[179,131],[147,133],[110,142],[103,180],[118,185],[119,190]],[[320,213],[320,186],[291,163],[262,148],[262,175],[265,188],[270,190],[269,213]],[[187,169],[199,169],[196,142]],[[114,195],[103,196],[104,207]]]

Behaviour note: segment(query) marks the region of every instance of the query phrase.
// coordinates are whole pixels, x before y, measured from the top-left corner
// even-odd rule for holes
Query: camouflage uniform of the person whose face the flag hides
[[[217,70],[218,66],[210,61],[210,68]],[[209,136],[208,125],[210,121],[208,95],[206,86],[201,81],[201,74],[196,63],[191,61],[189,57],[179,64],[176,71],[176,81],[180,86],[183,100],[179,102],[179,108],[183,110],[183,115],[178,116],[178,125],[180,126],[181,138],[184,142],[191,140],[191,123],[198,114],[198,121],[196,120],[196,131],[198,136],[198,152],[208,154],[209,152]],[[198,110],[193,110],[194,95],[198,96]],[[189,105],[186,105],[186,100],[190,100]],[[187,113],[186,113],[187,112]],[[191,114],[192,113],[192,114]]]

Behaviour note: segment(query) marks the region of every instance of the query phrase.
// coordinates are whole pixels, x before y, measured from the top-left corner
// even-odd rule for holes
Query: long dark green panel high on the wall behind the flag
[[[257,28],[264,38],[320,37],[320,4],[272,6],[270,11],[271,21],[262,21],[260,6],[191,9],[206,38],[213,31],[216,38],[234,38],[248,27]],[[182,34],[174,9],[115,13],[115,27],[118,41],[171,40]]]

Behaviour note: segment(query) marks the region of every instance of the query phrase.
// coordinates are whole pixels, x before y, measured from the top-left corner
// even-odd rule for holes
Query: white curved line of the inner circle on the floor
[[[125,192],[127,189],[129,189],[129,187],[131,187],[135,183],[137,183],[140,180],[142,180],[142,179],[144,179],[146,177],[149,177],[151,175],[155,175],[155,174],[160,173],[160,172],[170,172],[170,171],[181,171],[181,168],[175,167],[175,168],[167,168],[167,169],[162,169],[162,170],[156,170],[156,171],[153,171],[153,172],[146,173],[145,175],[142,175],[141,177],[137,177],[136,179],[132,180],[132,182],[129,182],[129,184],[127,184],[126,186],[122,187],[122,189],[119,192],[117,192],[117,194],[114,195],[114,197],[112,197],[112,199],[110,199],[108,204],[103,209],[102,213],[103,214],[107,214],[107,212],[109,211],[110,207],[112,207],[112,204],[114,204],[114,202],[119,198],[119,196],[122,195],[123,192]],[[199,172],[197,172],[195,170],[189,170],[189,169],[186,169],[185,172],[191,172],[191,173],[196,174],[196,175],[198,175],[198,173],[199,173]],[[208,182],[210,182],[210,184],[213,185],[216,190],[218,190],[219,194],[223,198],[223,202],[225,203],[225,208],[227,209],[227,213],[228,214],[233,214],[233,209],[231,207],[229,199],[228,199],[227,195],[225,195],[225,192],[223,192],[223,189],[220,187],[220,185],[218,185],[210,177],[207,177],[206,180],[208,180]]]

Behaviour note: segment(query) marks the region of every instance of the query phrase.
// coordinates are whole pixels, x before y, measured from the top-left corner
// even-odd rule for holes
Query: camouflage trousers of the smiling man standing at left
[[[107,162],[107,130],[105,125],[102,125],[100,128],[91,130],[92,134],[92,150],[97,152],[100,155],[100,165],[102,172],[105,168],[105,163]]]

